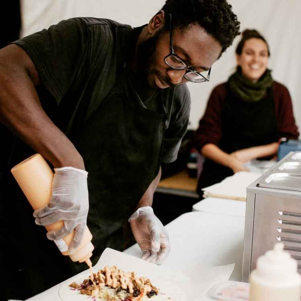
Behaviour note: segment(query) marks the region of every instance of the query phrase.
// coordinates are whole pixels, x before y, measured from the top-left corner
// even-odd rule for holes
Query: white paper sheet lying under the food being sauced
[[[176,271],[176,269],[172,271],[164,268],[163,266],[146,262],[137,257],[127,255],[125,253],[112,250],[110,248],[104,250],[98,263],[93,267],[93,272],[97,272],[99,269],[104,268],[104,266],[106,265],[116,265],[118,268],[123,269],[124,271],[135,271],[138,276],[150,278],[151,282],[154,285],[157,285],[161,291],[167,290],[166,296],[168,293],[171,294],[171,299],[168,299],[169,301],[200,300],[201,294],[210,285],[219,281],[228,280],[234,269],[234,264],[231,264],[206,268],[194,267],[193,269],[192,267],[187,267],[185,271],[179,272]],[[191,270],[193,270],[194,272],[191,273]],[[187,271],[190,271],[189,275],[185,275],[185,272],[187,273]],[[28,300],[86,301],[87,296],[78,296],[78,294],[76,295],[77,292],[72,290],[69,292],[66,290],[66,288],[68,288],[68,285],[73,281],[88,277],[88,275],[88,270],[84,271]],[[175,290],[176,296],[174,296],[171,291],[173,289]]]

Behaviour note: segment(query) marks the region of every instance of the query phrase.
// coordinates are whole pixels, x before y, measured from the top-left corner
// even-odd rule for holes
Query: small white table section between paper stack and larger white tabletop
[[[245,216],[246,202],[218,197],[206,197],[192,206],[192,211]]]

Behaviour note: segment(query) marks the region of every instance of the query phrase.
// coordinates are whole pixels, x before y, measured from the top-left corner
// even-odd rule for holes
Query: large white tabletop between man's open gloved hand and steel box
[[[235,263],[230,280],[241,281],[244,217],[190,212],[166,225],[171,251],[163,266],[193,275],[202,266]],[[141,257],[137,244],[124,251]]]

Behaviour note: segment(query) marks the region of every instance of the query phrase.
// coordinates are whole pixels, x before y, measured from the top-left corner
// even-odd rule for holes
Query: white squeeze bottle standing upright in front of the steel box
[[[277,243],[257,260],[250,276],[250,301],[300,301],[297,262]]]

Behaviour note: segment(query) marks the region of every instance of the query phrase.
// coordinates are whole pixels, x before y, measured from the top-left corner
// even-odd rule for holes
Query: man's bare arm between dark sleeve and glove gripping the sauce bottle
[[[43,110],[36,86],[39,75],[17,45],[0,50],[0,121],[54,167],[85,169],[81,155]]]

